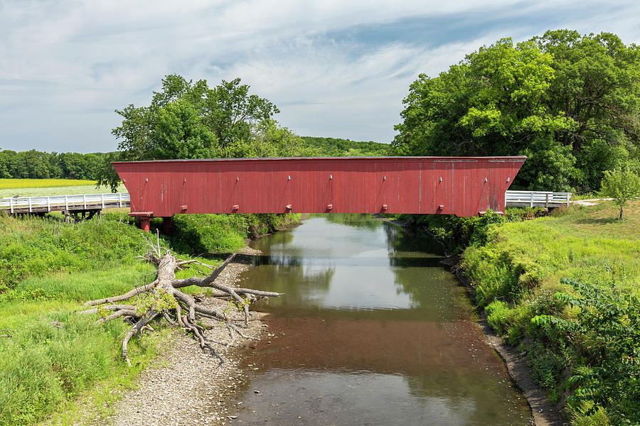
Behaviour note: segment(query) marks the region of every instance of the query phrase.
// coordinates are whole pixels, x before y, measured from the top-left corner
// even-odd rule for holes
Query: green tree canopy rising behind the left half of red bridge
[[[237,78],[210,88],[206,80],[167,75],[148,107],[116,110],[118,153],[105,161],[100,185],[117,186],[113,160],[306,155],[301,139],[272,117],[279,109],[249,93]]]

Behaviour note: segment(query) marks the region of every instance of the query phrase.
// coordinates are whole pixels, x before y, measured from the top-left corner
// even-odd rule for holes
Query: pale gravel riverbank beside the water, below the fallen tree
[[[260,254],[245,247],[242,254]],[[241,256],[238,256],[241,257]],[[250,268],[248,259],[230,263],[217,278],[221,283],[235,285],[239,275]],[[205,298],[206,305],[225,304],[224,301]],[[205,337],[215,347],[215,354],[200,349],[191,335],[180,334],[166,353],[156,359],[154,366],[141,374],[137,389],[125,393],[117,403],[114,415],[106,425],[115,426],[177,426],[225,425],[233,419],[230,404],[236,391],[245,382],[238,350],[255,346],[255,341],[268,329],[260,318],[265,314],[251,312],[249,329],[243,332],[253,340],[237,337],[231,342],[225,327],[206,331]],[[238,319],[242,315],[238,314]],[[206,324],[206,322],[205,322]],[[216,356],[216,354],[219,356]],[[220,362],[220,359],[223,362]],[[246,366],[244,370],[246,370]]]

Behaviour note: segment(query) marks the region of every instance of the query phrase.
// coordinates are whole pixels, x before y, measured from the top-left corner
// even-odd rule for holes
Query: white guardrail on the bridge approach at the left
[[[1,198],[0,209],[14,213],[51,212],[52,210],[69,209],[105,209],[128,207],[129,192],[117,194],[83,194],[83,195],[48,195],[46,197]]]

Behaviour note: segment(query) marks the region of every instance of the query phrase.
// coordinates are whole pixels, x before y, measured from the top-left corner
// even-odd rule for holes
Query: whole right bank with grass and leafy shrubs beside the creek
[[[489,324],[526,352],[572,425],[640,422],[640,201],[624,221],[617,209],[402,218],[461,254]]]

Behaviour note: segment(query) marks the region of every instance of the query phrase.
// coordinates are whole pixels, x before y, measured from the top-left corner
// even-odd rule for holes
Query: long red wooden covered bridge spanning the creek
[[[526,157],[356,157],[113,163],[131,215],[503,212]]]

